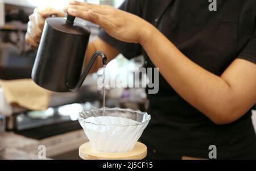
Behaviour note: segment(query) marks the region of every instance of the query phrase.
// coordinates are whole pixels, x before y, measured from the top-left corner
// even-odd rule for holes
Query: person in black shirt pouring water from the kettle
[[[149,159],[208,158],[210,145],[217,159],[256,159],[256,3],[218,0],[217,11],[210,5],[127,0],[117,10],[71,1],[64,9],[104,29],[88,56],[96,49],[108,59],[143,54],[147,67],[159,68],[159,93],[148,94],[152,119],[141,138]],[[30,16],[28,42],[38,45],[51,14],[63,15],[37,9]]]

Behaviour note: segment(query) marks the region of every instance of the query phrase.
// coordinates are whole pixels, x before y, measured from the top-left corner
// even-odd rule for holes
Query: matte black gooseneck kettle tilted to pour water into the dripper
[[[67,19],[46,19],[32,69],[32,80],[44,89],[75,91],[81,87],[98,56],[102,64],[106,64],[106,56],[96,51],[82,73],[90,29],[74,20],[71,15]]]

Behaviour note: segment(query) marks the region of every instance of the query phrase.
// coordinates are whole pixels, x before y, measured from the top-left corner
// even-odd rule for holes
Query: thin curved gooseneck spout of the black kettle
[[[75,87],[71,87],[68,82],[66,83],[66,85],[68,86],[68,89],[70,91],[76,91],[78,90],[81,86],[82,83],[84,82],[86,76],[88,75],[88,73],[90,72],[90,69],[92,68],[94,62],[96,61],[97,57],[101,56],[102,58],[102,64],[105,65],[107,62],[107,58],[104,55],[104,53],[102,53],[101,51],[96,51],[93,53],[92,58],[90,59],[88,65],[86,66],[84,73],[82,73],[82,76],[80,77],[79,81],[77,82],[77,85]]]

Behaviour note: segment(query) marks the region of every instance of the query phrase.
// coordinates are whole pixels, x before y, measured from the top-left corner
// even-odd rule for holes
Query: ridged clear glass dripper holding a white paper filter
[[[84,110],[79,123],[92,147],[99,152],[131,151],[150,121],[146,112],[131,109],[106,108]]]

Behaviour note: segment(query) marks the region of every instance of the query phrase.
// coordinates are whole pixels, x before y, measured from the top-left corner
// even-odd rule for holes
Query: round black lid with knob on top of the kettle
[[[60,17],[50,17],[46,19],[47,24],[49,26],[59,30],[61,32],[65,32],[67,34],[73,35],[85,35],[90,34],[90,28],[81,24],[79,22],[69,22],[69,15],[68,18],[60,18]],[[73,18],[75,19],[75,17]]]

